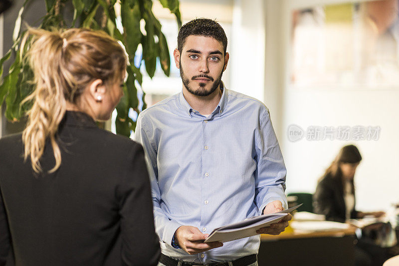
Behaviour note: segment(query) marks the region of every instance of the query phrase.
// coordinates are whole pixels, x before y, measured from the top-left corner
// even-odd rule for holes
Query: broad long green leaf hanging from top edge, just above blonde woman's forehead
[[[124,0],[121,7],[121,16],[126,51],[129,59],[133,59],[142,36],[140,31],[141,12],[137,1]]]

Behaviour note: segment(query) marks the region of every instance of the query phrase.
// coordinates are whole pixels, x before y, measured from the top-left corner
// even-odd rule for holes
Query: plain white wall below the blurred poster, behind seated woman
[[[399,88],[370,91],[287,91],[283,125],[305,132],[309,126],[379,126],[378,140],[307,140],[284,138],[287,191],[313,193],[343,145],[356,144],[363,156],[355,175],[357,208],[387,209],[399,202]]]

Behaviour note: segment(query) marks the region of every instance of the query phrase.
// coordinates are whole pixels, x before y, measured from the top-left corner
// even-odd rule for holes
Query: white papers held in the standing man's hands
[[[256,230],[267,227],[271,224],[277,223],[284,216],[287,216],[289,212],[295,210],[302,204],[293,208],[283,210],[278,213],[264,214],[247,218],[241,222],[225,225],[219,228],[213,229],[212,233],[209,234],[208,238],[205,239],[204,243],[208,242],[229,242],[240,238],[251,237],[259,235]]]

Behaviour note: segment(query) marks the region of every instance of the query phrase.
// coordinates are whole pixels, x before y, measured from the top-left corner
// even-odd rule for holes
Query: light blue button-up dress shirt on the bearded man
[[[209,117],[176,94],[140,113],[134,140],[144,146],[162,252],[186,262],[225,262],[257,254],[260,237],[196,255],[171,246],[182,225],[204,234],[260,215],[267,203],[287,208],[286,169],[268,109],[222,89]]]

